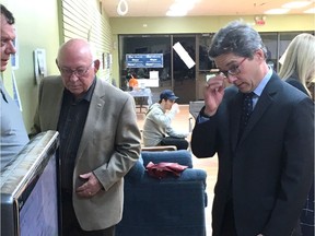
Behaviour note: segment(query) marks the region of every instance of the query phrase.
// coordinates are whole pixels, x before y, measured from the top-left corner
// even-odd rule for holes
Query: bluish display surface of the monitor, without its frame
[[[19,198],[21,236],[58,235],[56,155]]]

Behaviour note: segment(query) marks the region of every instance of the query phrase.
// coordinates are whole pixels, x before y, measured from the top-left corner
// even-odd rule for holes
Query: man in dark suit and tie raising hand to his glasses
[[[266,54],[259,34],[237,21],[221,28],[210,46],[221,73],[206,84],[191,149],[198,157],[218,153],[213,236],[301,233],[314,168],[313,103],[279,79]],[[225,87],[226,81],[232,85]],[[242,130],[246,94],[252,109]]]

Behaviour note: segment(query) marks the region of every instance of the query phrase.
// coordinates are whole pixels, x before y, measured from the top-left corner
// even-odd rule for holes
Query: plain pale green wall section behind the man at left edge
[[[15,17],[19,69],[14,75],[20,92],[23,118],[27,131],[33,122],[37,102],[33,50],[46,50],[48,74],[57,73],[55,58],[59,47],[58,10],[56,0],[1,0]],[[12,94],[12,70],[3,73],[5,87]]]

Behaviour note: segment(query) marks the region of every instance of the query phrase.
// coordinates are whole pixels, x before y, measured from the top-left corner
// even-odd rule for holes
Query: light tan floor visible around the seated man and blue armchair
[[[188,105],[180,105],[180,111],[176,115],[175,119],[172,122],[172,126],[174,129],[180,129],[180,130],[188,130],[189,131],[189,107]],[[143,127],[143,120],[145,115],[142,109],[142,113],[140,113],[139,109],[137,109],[137,118],[138,118],[138,125],[139,129],[141,130]],[[192,123],[194,127],[194,121]],[[189,139],[190,137],[188,137]],[[217,156],[212,158],[197,158],[192,157],[194,162],[194,168],[200,168],[205,169],[207,172],[207,194],[208,194],[208,206],[206,208],[206,224],[207,224],[207,236],[211,235],[211,206],[212,206],[212,200],[213,200],[213,189],[214,184],[217,181],[217,172],[218,172],[218,158]]]

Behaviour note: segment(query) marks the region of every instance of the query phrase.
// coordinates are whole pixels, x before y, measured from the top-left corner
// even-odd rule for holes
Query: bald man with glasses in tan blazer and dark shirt
[[[60,133],[62,235],[114,236],[141,149],[133,97],[96,78],[84,39],[61,45],[56,63],[61,76],[40,82],[32,133]]]

